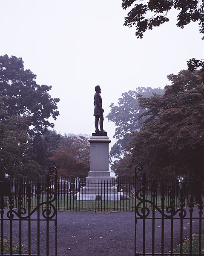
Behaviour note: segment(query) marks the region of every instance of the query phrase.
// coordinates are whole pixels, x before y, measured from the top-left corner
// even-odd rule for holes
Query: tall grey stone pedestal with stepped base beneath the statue
[[[109,172],[109,143],[107,133],[92,133],[89,139],[90,171],[86,177],[86,186],[75,195],[76,200],[120,200]]]

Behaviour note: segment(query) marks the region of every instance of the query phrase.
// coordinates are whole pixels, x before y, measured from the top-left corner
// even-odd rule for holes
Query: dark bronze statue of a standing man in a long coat
[[[103,112],[102,109],[102,98],[101,98],[101,88],[99,85],[95,87],[95,95],[94,95],[94,116],[95,116],[95,132],[106,132],[103,130]],[[100,121],[99,121],[100,120]],[[98,121],[100,125],[101,131],[98,129]]]

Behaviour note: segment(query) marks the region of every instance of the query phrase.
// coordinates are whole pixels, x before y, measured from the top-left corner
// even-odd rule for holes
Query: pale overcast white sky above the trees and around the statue
[[[94,132],[96,85],[106,116],[123,92],[164,88],[168,74],[204,58],[198,24],[177,28],[173,11],[169,23],[137,39],[123,26],[127,12],[121,0],[0,1],[0,55],[22,57],[38,84],[52,85],[52,97],[60,98],[57,132]],[[112,140],[114,124],[105,119],[104,129]]]

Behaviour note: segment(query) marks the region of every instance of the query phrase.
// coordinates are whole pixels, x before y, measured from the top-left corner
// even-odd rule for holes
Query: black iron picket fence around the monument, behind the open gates
[[[185,194],[184,206],[188,206],[190,194],[198,185],[199,181],[179,180],[179,179],[155,179],[157,190],[155,191],[155,200],[159,208],[162,207],[161,186],[166,190],[164,205],[169,205],[171,202],[170,191],[175,190],[174,206],[180,206],[180,188],[183,187]],[[14,207],[19,206],[18,191],[22,191],[22,205],[27,209],[28,201],[26,194],[28,184],[32,191],[30,207],[34,209],[37,205],[37,184],[40,183],[40,203],[43,210],[46,206],[43,202],[46,201],[45,179],[14,179],[11,181],[13,191]],[[151,200],[152,180],[147,181],[146,199]],[[52,187],[54,189],[54,185]],[[121,177],[112,179],[111,182],[86,182],[86,178],[64,178],[60,177],[57,180],[57,210],[69,212],[110,212],[110,211],[135,211],[135,203],[138,204],[138,198],[135,198],[135,191],[141,189],[139,180]],[[193,202],[196,203],[195,196]],[[148,204],[148,203],[147,203]],[[9,197],[5,197],[5,207],[9,208]],[[149,203],[151,209],[152,205]]]

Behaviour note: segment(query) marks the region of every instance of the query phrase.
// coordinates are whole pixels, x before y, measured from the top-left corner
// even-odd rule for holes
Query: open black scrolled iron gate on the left
[[[14,190],[9,182],[0,182],[1,255],[57,255],[57,169],[51,167],[45,184],[37,182],[36,198],[32,198],[32,186],[26,184]],[[17,208],[14,194],[17,193]],[[9,209],[4,209],[5,197],[9,197]],[[27,207],[23,207],[23,200]],[[37,206],[32,209],[33,200]],[[36,203],[35,202],[35,203]]]

